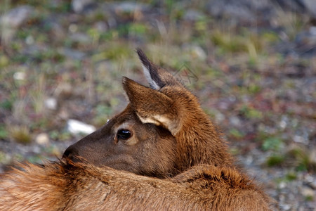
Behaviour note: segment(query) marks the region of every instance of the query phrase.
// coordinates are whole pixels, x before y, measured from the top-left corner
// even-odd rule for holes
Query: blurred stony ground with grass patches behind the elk
[[[0,172],[60,158],[147,84],[183,80],[280,210],[316,207],[315,0],[1,0]]]

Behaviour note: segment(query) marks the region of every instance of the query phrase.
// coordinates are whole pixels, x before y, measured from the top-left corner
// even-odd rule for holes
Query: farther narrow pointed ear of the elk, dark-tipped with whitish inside
[[[165,86],[180,85],[173,75],[152,63],[141,49],[136,49],[138,57],[143,64],[144,75],[152,89],[162,89]]]

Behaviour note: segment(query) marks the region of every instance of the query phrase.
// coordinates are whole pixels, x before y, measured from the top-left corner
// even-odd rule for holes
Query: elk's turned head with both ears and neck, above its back
[[[220,132],[197,98],[137,49],[150,87],[123,77],[129,104],[64,157],[136,174],[172,177],[193,165],[232,165]]]

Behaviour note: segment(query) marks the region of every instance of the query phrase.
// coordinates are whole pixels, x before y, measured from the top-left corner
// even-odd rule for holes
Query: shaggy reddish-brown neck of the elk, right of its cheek
[[[176,134],[178,155],[181,156],[178,166],[181,170],[199,164],[232,167],[233,158],[221,133],[202,108],[195,110],[195,115],[187,115]]]

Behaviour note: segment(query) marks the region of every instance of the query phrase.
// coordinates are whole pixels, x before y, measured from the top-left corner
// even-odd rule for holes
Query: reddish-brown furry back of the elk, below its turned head
[[[22,165],[1,177],[0,210],[269,210],[242,174],[202,165],[172,179],[87,163]]]

